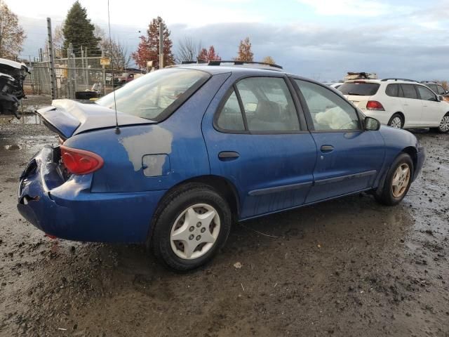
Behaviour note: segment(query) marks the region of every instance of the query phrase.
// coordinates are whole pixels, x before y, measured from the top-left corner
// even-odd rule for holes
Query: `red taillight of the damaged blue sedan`
[[[73,174],[87,174],[101,169],[103,159],[98,154],[86,150],[60,146],[62,163]]]

